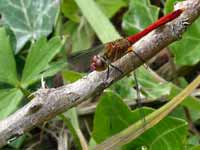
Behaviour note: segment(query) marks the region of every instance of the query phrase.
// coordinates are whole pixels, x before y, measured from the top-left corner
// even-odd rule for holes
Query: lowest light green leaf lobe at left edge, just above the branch
[[[17,110],[22,97],[19,89],[0,90],[0,120]]]

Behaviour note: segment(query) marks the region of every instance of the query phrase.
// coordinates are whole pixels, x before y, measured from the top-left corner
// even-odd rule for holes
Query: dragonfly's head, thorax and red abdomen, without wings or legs
[[[122,56],[124,56],[126,53],[130,52],[130,49],[128,49],[132,44],[140,40],[142,37],[147,35],[152,30],[174,20],[178,16],[181,15],[181,13],[184,11],[184,9],[178,9],[176,11],[173,11],[163,17],[161,17],[159,20],[154,22],[153,24],[149,25],[147,28],[145,28],[143,31],[129,36],[127,38],[119,39],[113,42],[109,42],[104,47],[104,52],[102,55],[95,55],[92,58],[91,63],[91,69],[102,71],[106,69],[106,66],[109,63],[112,63]]]

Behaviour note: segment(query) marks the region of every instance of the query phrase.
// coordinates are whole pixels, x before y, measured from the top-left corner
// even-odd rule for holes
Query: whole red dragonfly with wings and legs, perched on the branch
[[[143,31],[134,34],[132,36],[129,36],[127,38],[121,38],[106,44],[102,44],[100,46],[97,46],[95,48],[91,48],[85,51],[85,54],[93,55],[93,53],[98,53],[97,55],[93,55],[91,59],[90,69],[92,71],[102,71],[108,68],[109,72],[109,66],[117,69],[119,72],[122,73],[120,69],[113,66],[111,63],[118,60],[125,54],[129,52],[134,52],[131,48],[131,46],[136,43],[138,40],[140,40],[142,37],[147,35],[152,30],[174,20],[180,14],[184,11],[184,9],[178,9],[175,10],[163,17],[161,17],[159,20],[155,21],[153,24],[149,25],[147,28],[145,28]],[[100,53],[99,53],[100,52]],[[84,54],[84,51],[82,52]],[[134,52],[135,53],[135,52]],[[79,60],[77,59],[77,56]],[[75,54],[69,57],[68,61],[72,64],[77,63],[80,61],[80,57],[82,54]],[[142,58],[140,58],[142,59]],[[80,64],[80,62],[79,62]],[[108,73],[109,74],[109,73]]]

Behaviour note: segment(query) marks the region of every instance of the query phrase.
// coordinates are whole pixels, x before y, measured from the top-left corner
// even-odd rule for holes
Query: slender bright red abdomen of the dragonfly
[[[163,17],[161,17],[159,20],[155,21],[153,24],[149,25],[147,28],[145,28],[143,31],[136,33],[132,36],[127,37],[128,41],[131,42],[132,44],[137,42],[138,40],[140,40],[142,37],[144,37],[145,35],[147,35],[149,32],[151,32],[152,30],[174,20],[175,18],[177,18],[178,16],[180,16],[180,14],[183,12],[184,9],[178,9],[176,11],[173,11]]]

